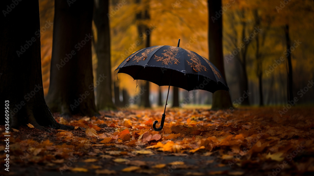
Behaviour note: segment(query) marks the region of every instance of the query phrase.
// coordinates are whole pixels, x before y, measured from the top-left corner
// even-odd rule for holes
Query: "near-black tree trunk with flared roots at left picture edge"
[[[11,3],[3,0],[0,7]],[[21,1],[0,18],[0,94],[2,107],[9,107],[10,128],[30,123],[41,130],[73,130],[57,123],[44,99],[38,1]]]

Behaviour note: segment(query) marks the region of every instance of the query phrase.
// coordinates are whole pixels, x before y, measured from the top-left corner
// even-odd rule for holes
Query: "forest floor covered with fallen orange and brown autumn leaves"
[[[162,109],[104,111],[68,121],[55,114],[59,123],[76,129],[14,129],[10,172],[1,154],[0,174],[314,175],[314,108],[285,111],[169,108],[159,132],[152,124],[161,120]]]

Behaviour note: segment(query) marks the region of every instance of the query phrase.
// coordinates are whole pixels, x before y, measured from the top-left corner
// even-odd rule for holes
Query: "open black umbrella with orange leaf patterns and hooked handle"
[[[217,90],[229,91],[221,73],[211,62],[193,51],[180,48],[179,44],[180,39],[177,47],[151,46],[136,51],[116,68],[119,69],[118,73],[126,73],[134,80],[146,80],[159,86],[169,85],[160,127],[156,128],[157,120],[153,123],[155,131],[160,131],[164,126],[170,86],[188,91],[194,89],[212,93]]]

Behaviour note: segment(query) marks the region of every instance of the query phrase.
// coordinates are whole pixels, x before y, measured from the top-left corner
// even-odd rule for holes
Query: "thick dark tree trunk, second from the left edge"
[[[91,25],[93,1],[55,1],[50,86],[53,112],[65,116],[98,115],[95,107]]]

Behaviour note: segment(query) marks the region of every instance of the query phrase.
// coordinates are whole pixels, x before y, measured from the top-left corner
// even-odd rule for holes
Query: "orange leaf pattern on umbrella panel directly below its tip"
[[[164,50],[164,52],[165,53],[162,53],[162,55],[164,55],[163,57],[155,55],[156,61],[162,61],[163,65],[169,65],[169,63],[171,65],[172,64],[178,65],[178,63],[180,63],[178,58],[176,58],[176,56],[177,56],[177,54],[179,52],[179,48],[178,47],[171,46],[168,49]]]

